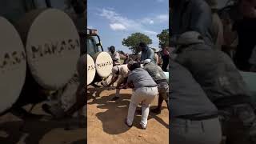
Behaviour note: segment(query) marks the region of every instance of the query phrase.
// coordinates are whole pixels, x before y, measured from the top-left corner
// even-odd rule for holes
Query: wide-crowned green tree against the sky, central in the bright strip
[[[133,54],[138,54],[140,52],[140,50],[138,50],[138,44],[140,42],[145,42],[146,45],[152,44],[152,40],[146,34],[134,33],[127,38],[123,38],[122,45],[127,46]]]

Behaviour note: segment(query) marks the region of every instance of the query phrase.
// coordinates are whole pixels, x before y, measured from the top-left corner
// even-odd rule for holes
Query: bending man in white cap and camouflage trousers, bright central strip
[[[167,106],[168,106],[168,100],[169,100],[168,98],[169,85],[167,82],[166,74],[163,73],[160,66],[157,66],[156,64],[154,64],[150,59],[146,59],[144,61],[143,69],[150,74],[150,76],[154,79],[154,82],[156,82],[158,85],[158,93],[159,93],[158,107],[152,110],[152,112],[156,114],[160,114],[163,100],[166,101]]]

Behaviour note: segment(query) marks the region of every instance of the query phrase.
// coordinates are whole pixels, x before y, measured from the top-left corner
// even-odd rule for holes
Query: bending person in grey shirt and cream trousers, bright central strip
[[[157,84],[151,78],[150,74],[141,68],[138,62],[131,61],[128,64],[130,74],[127,80],[127,86],[134,87],[134,93],[130,98],[126,125],[132,126],[136,107],[142,102],[142,120],[140,125],[142,129],[146,129],[147,118],[150,113],[150,103],[158,94]]]

